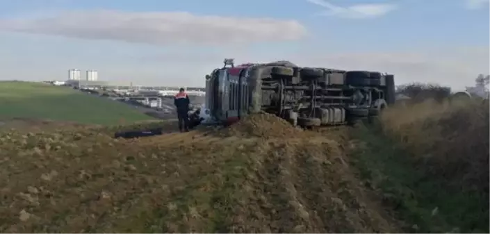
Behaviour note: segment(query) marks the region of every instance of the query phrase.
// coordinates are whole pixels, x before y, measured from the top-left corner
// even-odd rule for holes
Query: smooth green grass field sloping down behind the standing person
[[[154,119],[111,99],[70,87],[20,81],[0,82],[0,119],[49,119],[81,124],[120,124]]]

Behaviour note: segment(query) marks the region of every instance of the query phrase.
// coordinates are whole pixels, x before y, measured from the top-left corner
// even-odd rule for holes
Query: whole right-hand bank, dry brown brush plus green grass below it
[[[350,132],[350,158],[406,230],[490,233],[489,104],[423,101],[380,120]]]

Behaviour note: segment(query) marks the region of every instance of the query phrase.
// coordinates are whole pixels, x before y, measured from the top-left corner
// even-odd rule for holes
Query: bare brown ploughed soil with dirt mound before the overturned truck
[[[350,171],[343,131],[259,116],[140,140],[3,134],[0,233],[402,233]]]

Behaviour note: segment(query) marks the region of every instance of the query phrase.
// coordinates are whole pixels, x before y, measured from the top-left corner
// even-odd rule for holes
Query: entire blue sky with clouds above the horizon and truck
[[[204,85],[225,57],[391,72],[460,89],[490,74],[490,0],[0,0],[0,79]],[[84,76],[84,75],[83,75]]]

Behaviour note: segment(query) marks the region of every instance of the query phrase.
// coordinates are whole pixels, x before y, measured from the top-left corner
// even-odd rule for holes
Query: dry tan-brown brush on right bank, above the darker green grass
[[[488,103],[425,101],[387,110],[382,123],[431,174],[490,192]]]

